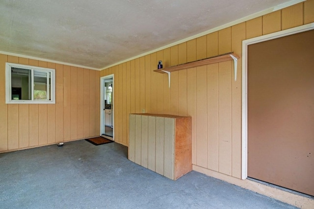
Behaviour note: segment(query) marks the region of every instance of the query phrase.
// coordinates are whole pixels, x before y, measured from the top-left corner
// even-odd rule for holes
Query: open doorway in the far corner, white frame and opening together
[[[113,74],[100,78],[101,83],[101,135],[114,140],[114,126],[113,126],[113,114],[114,114],[114,102],[113,102]]]

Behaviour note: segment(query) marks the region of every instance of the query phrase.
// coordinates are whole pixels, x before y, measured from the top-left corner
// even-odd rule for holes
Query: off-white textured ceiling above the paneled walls
[[[289,0],[0,0],[0,51],[102,69]]]

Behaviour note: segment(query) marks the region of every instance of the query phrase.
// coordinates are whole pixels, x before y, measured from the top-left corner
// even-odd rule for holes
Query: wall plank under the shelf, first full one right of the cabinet
[[[196,70],[196,163],[207,167],[207,66]]]

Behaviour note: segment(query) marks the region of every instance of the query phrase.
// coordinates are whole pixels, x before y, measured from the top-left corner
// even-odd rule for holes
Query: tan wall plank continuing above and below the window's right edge
[[[47,63],[47,67],[55,69],[54,63]],[[47,105],[47,141],[48,143],[55,142],[55,105]]]

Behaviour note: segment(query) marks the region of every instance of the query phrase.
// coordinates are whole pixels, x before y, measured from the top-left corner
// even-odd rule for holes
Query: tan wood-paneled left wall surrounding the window
[[[5,104],[5,63],[55,69],[55,104]],[[100,71],[0,54],[0,152],[100,135]]]

